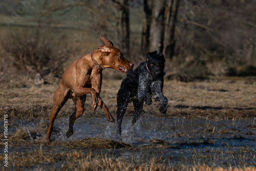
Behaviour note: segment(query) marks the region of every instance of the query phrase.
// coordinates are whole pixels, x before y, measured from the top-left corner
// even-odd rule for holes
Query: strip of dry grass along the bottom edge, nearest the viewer
[[[169,159],[162,160],[161,157],[125,159],[102,153],[94,155],[92,151],[87,153],[74,148],[60,151],[59,149],[45,148],[42,145],[11,155],[9,160],[10,168],[15,168],[15,170],[255,170],[253,166],[221,167],[196,163],[193,165],[177,164]],[[62,164],[55,166],[54,163],[58,162]]]

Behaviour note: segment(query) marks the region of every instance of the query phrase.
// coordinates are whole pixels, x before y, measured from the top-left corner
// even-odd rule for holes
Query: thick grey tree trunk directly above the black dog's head
[[[150,51],[163,52],[164,12],[166,0],[154,0],[150,29]]]

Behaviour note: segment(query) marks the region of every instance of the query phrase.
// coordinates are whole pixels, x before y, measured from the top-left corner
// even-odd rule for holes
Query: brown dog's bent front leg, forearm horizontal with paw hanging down
[[[92,107],[92,110],[95,112],[97,106],[98,106],[98,103],[99,103],[99,100],[97,98],[97,93],[94,89],[92,88],[76,88],[74,90],[75,92],[75,95],[76,96],[82,96],[82,95],[85,95],[85,94],[91,94],[92,96],[92,104],[91,104],[91,107]]]

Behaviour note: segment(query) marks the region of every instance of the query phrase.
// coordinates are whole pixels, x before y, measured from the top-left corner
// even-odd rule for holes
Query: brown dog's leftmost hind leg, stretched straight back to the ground
[[[59,88],[56,90],[53,96],[53,107],[50,117],[50,125],[47,130],[45,141],[49,141],[51,134],[52,134],[52,128],[53,128],[53,122],[59,113],[62,106],[67,102],[69,99],[68,90],[63,89],[63,87],[59,86]]]

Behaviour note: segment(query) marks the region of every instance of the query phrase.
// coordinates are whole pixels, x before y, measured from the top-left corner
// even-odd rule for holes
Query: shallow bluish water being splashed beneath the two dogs
[[[69,120],[56,119],[54,124],[59,132],[55,132],[52,138],[55,141],[74,141],[92,137],[113,139],[140,146],[147,145],[149,142],[160,145],[167,143],[170,148],[162,149],[162,151],[155,149],[152,153],[167,158],[175,158],[175,160],[187,160],[187,162],[191,157],[190,149],[195,154],[197,151],[199,151],[198,153],[218,151],[218,153],[226,152],[234,156],[239,155],[242,148],[246,148],[250,151],[248,155],[252,158],[256,155],[256,123],[254,120],[229,119],[215,121],[205,118],[154,118],[144,116],[134,125],[131,124],[131,121],[132,118],[123,119],[122,135],[118,136],[116,133],[117,123],[108,122],[105,118],[78,119],[74,124],[74,134],[67,138],[66,132]],[[118,152],[115,153],[118,154]],[[142,156],[145,153],[142,151],[135,153],[121,152],[119,154],[119,156],[130,155]]]

